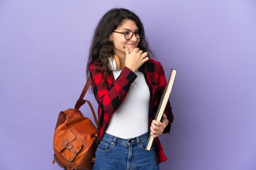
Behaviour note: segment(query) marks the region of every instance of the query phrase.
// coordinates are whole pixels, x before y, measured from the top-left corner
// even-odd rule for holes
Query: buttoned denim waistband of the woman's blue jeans
[[[102,139],[108,140],[110,142],[113,142],[113,144],[115,143],[119,143],[119,144],[134,144],[137,143],[139,144],[140,142],[144,141],[144,140],[148,140],[148,136],[149,133],[144,133],[143,135],[137,136],[137,137],[133,137],[130,139],[123,139],[120,137],[116,137],[113,135],[110,135],[108,133],[104,133]]]

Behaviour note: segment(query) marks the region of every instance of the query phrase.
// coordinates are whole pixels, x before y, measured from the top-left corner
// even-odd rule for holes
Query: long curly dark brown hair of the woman
[[[107,75],[112,75],[112,71],[109,69],[110,63],[108,57],[115,54],[114,44],[112,41],[110,41],[109,37],[112,31],[121,26],[126,20],[135,21],[139,30],[143,32],[137,47],[143,52],[148,52],[149,58],[155,58],[154,52],[150,50],[148,39],[145,36],[144,27],[139,17],[128,9],[114,8],[103,15],[95,28],[87,63],[87,77],[90,76],[90,65],[97,62],[98,67],[95,67],[95,69],[102,72],[103,84],[108,86],[106,83]]]

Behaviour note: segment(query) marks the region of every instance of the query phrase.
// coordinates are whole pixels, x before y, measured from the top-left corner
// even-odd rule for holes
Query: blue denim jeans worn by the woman
[[[159,170],[157,150],[146,150],[149,133],[122,139],[105,133],[96,150],[93,170]]]

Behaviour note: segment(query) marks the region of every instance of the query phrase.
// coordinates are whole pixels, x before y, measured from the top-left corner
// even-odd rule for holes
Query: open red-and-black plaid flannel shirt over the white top
[[[125,67],[116,80],[113,76],[108,75],[107,82],[110,87],[107,87],[102,83],[103,74],[95,70],[96,65],[98,65],[98,63],[93,63],[90,65],[90,76],[92,78],[92,89],[94,96],[99,104],[98,116],[100,116],[102,113],[104,114],[99,136],[99,140],[101,140],[106,128],[108,127],[108,124],[110,123],[112,114],[114,114],[122,102],[124,102],[124,99],[129,92],[130,85],[135,78],[137,78],[137,75]],[[166,86],[166,77],[162,65],[153,59],[149,59],[146,63],[144,63],[139,68],[139,71],[144,74],[146,83],[150,90],[150,102],[148,110],[149,129],[152,120],[155,118],[159,101]],[[169,120],[169,124],[164,129],[163,133],[170,133],[171,123],[173,122],[173,114],[169,101],[164,112]],[[163,153],[163,148],[159,138],[155,137],[153,143],[158,150],[157,164],[166,161],[167,158]]]

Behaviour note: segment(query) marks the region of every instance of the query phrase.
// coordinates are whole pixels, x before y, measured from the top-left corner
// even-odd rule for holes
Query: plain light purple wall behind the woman
[[[113,7],[141,17],[166,76],[178,70],[161,169],[255,170],[255,0],[1,0],[0,169],[61,169],[58,113],[74,107],[92,33]]]

